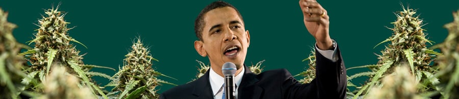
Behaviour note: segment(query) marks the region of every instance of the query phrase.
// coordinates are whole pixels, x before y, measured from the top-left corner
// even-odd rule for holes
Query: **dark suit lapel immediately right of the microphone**
[[[263,88],[255,85],[259,80],[257,75],[250,71],[250,68],[244,65],[245,72],[238,89],[238,98],[260,98]]]

